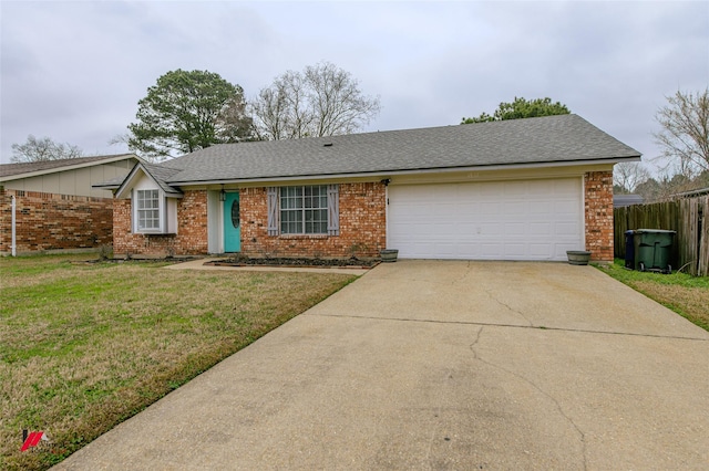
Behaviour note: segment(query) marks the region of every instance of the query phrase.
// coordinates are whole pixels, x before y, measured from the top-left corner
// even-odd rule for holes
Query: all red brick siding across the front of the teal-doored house
[[[613,262],[613,171],[584,177],[586,250]],[[387,244],[386,188],[380,182],[339,185],[340,236],[268,236],[266,188],[239,191],[242,253],[248,257],[378,257]],[[114,203],[114,252],[131,255],[198,255],[207,248],[207,192],[186,191],[177,207],[177,234],[131,231],[131,200]],[[219,234],[222,237],[222,234]]]

